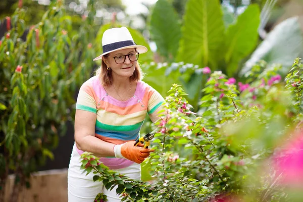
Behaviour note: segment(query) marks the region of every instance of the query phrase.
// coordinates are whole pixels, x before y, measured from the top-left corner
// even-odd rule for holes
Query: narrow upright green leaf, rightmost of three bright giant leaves
[[[256,47],[259,24],[259,7],[258,5],[250,5],[239,15],[237,22],[228,27],[225,40],[225,63],[229,76],[237,71],[239,61]]]

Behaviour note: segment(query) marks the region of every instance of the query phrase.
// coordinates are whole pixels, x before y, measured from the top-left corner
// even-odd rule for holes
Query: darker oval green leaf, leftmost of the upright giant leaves
[[[167,0],[156,3],[150,19],[150,34],[157,44],[158,52],[172,61],[177,55],[181,25],[177,13]]]

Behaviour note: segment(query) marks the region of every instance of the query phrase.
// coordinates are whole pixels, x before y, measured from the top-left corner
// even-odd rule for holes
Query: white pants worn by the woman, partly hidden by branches
[[[93,202],[96,195],[100,192],[107,195],[109,202],[120,202],[120,195],[116,194],[116,188],[111,191],[103,186],[102,181],[93,181],[94,174],[91,172],[88,175],[82,173],[80,170],[81,162],[80,155],[78,154],[74,145],[72,156],[68,168],[68,201],[69,202]],[[132,164],[127,168],[114,170],[133,180],[141,179],[140,164]]]

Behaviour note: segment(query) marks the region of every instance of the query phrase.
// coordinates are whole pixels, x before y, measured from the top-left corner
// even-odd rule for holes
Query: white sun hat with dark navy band
[[[96,57],[95,60],[101,60],[102,56],[114,51],[119,51],[125,48],[136,48],[139,54],[147,52],[147,48],[143,45],[137,45],[134,42],[130,32],[126,27],[108,29],[102,36],[103,54]]]

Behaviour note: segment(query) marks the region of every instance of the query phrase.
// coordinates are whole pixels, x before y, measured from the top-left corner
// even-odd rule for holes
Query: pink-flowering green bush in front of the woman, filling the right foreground
[[[302,61],[294,61],[286,82],[277,74],[279,66],[260,73],[262,66],[266,64],[256,65],[238,84],[219,71],[212,73],[196,114],[181,86],[171,87],[155,124],[155,152],[146,160],[151,181],[132,181],[97,159],[89,162],[88,153],[82,155],[82,168],[93,170],[94,180],[102,180],[107,189],[118,185],[122,200],[300,201],[300,192],[286,189],[293,180],[285,178],[303,173],[294,162],[301,157],[297,151],[303,136]],[[284,142],[293,145],[297,133],[296,150],[289,145],[282,149]],[[292,159],[283,159],[286,151]],[[290,175],[293,168],[297,172]]]

